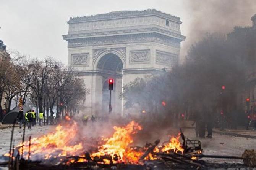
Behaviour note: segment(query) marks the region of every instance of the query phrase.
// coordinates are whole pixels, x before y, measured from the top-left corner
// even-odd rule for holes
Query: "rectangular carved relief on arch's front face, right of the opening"
[[[130,63],[149,62],[149,50],[130,51]]]

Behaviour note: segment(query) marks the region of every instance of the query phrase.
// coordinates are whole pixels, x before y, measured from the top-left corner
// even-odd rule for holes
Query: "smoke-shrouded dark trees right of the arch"
[[[244,113],[241,94],[246,86],[246,72],[255,64],[248,39],[241,37],[231,40],[216,33],[207,34],[191,46],[185,61],[171,71],[138,78],[126,85],[122,94],[126,108],[137,105],[151,116],[161,118],[159,115],[164,114],[168,121],[177,120],[182,113],[213,121],[224,113],[225,121],[236,124],[236,113]]]

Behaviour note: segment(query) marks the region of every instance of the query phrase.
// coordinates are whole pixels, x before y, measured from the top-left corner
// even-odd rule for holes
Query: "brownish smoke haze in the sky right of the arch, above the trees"
[[[251,17],[256,13],[255,0],[185,0],[184,5],[190,18],[181,48],[183,59],[190,46],[207,32],[225,35],[235,26],[251,26]]]

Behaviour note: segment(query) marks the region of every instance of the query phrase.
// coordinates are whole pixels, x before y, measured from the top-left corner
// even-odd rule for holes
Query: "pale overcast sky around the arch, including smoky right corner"
[[[236,6],[230,8],[233,2]],[[67,64],[62,35],[68,32],[70,17],[154,8],[180,17],[181,33],[187,36],[184,53],[185,46],[203,32],[250,26],[255,5],[256,0],[0,0],[0,39],[7,49],[32,57],[53,56]]]

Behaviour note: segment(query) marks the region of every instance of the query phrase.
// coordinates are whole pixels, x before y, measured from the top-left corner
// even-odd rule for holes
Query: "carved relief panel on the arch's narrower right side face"
[[[156,51],[156,62],[163,65],[173,65],[177,63],[178,56],[164,51]]]

